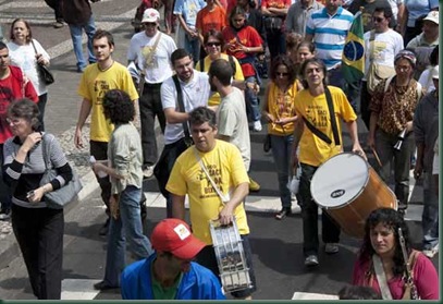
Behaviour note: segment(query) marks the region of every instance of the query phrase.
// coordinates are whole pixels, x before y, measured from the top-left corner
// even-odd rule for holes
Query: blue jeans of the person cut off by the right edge
[[[432,169],[423,174],[423,250],[431,250],[439,244],[439,197],[435,194],[435,182]]]

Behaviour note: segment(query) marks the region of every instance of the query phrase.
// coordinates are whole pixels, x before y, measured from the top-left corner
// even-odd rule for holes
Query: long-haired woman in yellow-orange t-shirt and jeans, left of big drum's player
[[[268,120],[268,134],[271,136],[282,202],[282,209],[275,218],[283,219],[291,214],[291,192],[286,184],[290,180],[294,122],[297,119],[294,97],[298,89],[293,61],[287,56],[278,56],[272,61],[270,76],[262,115]]]

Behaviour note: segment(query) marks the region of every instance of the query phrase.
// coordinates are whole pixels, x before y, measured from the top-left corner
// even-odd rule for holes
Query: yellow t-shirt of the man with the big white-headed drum
[[[339,118],[346,122],[355,121],[357,115],[347,101],[346,95],[339,87],[328,86],[334,104],[335,120],[342,145],[335,146],[334,136],[331,127],[331,119],[328,109],[327,97],[324,94],[313,97],[309,89],[303,89],[295,96],[295,111],[297,115],[306,118],[313,126],[323,132],[331,138],[331,145],[328,145],[317,135],[315,135],[305,125],[299,143],[299,161],[318,167],[334,155],[343,151],[342,124]]]

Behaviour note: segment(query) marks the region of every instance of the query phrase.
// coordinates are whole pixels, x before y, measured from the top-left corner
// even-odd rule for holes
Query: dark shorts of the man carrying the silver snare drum
[[[246,297],[253,294],[257,290],[257,282],[256,282],[256,276],[254,273],[254,267],[253,267],[253,252],[250,251],[250,244],[249,244],[249,239],[248,235],[241,235],[242,243],[243,243],[243,251],[245,254],[246,258],[246,264],[249,267],[249,278],[250,282],[253,284],[251,288],[247,288],[244,290],[238,290],[231,292],[231,295],[234,297]],[[200,264],[201,266],[205,266],[209,270],[211,270],[216,277],[220,281],[220,271],[219,271],[219,265],[217,263],[217,257],[216,257],[216,251],[212,245],[207,245],[205,246],[197,255],[196,262]]]

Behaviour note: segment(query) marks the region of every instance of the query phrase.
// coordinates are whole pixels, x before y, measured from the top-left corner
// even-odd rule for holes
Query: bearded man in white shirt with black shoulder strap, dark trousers
[[[167,198],[167,217],[172,217],[172,200],[165,190],[176,158],[192,144],[189,136],[189,112],[197,107],[206,107],[210,86],[206,73],[194,70],[193,57],[185,49],[176,49],[171,54],[175,75],[161,85],[161,104],[167,119],[164,148],[153,170],[159,189]],[[177,100],[182,97],[183,109]]]

